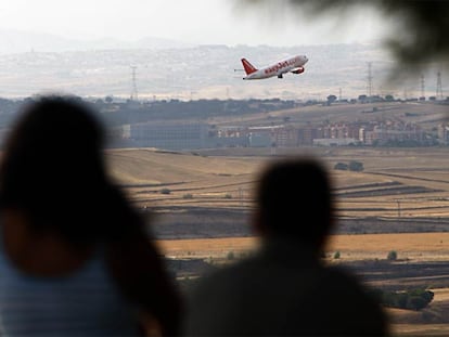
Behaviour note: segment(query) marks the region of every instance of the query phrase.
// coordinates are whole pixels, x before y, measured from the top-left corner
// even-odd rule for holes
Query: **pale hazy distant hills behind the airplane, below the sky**
[[[373,43],[190,47],[154,38],[137,42],[76,41],[11,31],[0,34],[0,92],[4,98],[57,90],[81,96],[129,99],[133,87],[131,66],[136,67],[138,96],[145,100],[324,100],[329,94],[357,98],[367,93],[369,62],[373,94],[421,94],[420,74],[407,88],[385,83],[393,61]],[[16,53],[5,54],[8,51]],[[309,57],[304,74],[287,74],[282,80],[242,80],[242,57],[261,67],[291,54]],[[436,79],[431,79],[435,72],[425,76],[426,95],[435,94]],[[448,82],[445,74],[442,82]]]

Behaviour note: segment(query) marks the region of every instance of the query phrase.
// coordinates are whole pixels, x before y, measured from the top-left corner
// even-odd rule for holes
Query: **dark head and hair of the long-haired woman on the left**
[[[0,207],[24,212],[36,231],[98,241],[104,217],[120,203],[111,193],[102,146],[102,126],[80,100],[44,96],[26,104],[3,148]]]

